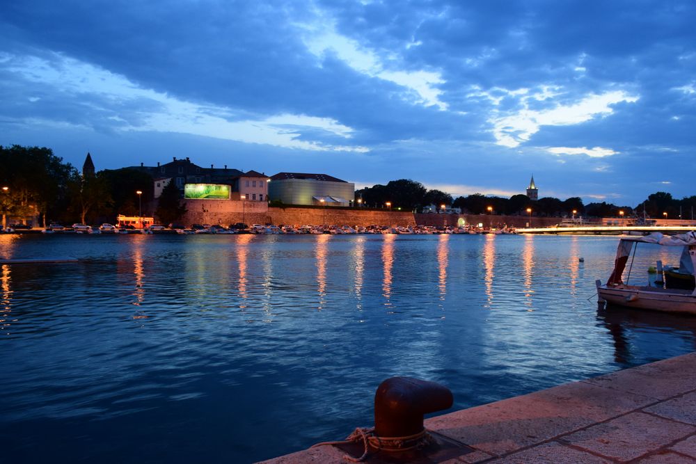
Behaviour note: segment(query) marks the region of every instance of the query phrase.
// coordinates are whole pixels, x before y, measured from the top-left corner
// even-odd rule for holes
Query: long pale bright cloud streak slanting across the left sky
[[[102,113],[98,125],[120,131],[178,132],[245,143],[335,152],[367,152],[366,147],[327,143],[349,139],[353,129],[331,118],[303,114],[277,114],[245,118],[233,109],[186,102],[152,89],[139,88],[125,77],[55,54],[49,61],[37,56],[0,55],[0,67],[31,83],[33,88],[52,88],[65,98],[83,102]],[[38,102],[39,97],[28,97]],[[114,103],[130,111],[114,111]],[[111,108],[110,108],[111,107]],[[40,118],[31,118],[39,120]],[[83,120],[81,124],[95,124]],[[305,134],[319,135],[303,140]]]

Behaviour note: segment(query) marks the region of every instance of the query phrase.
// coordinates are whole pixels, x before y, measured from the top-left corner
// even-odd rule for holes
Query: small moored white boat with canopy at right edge
[[[693,289],[670,288],[664,285],[628,285],[633,260],[628,267],[628,276],[626,283],[624,283],[622,275],[626,269],[628,257],[632,253],[635,256],[635,248],[638,247],[639,243],[657,246],[681,246],[683,248],[682,257],[686,253],[690,259],[690,266],[687,269],[690,269],[693,275],[693,269],[696,268],[694,265],[696,264],[696,232],[671,236],[655,232],[645,237],[622,237],[617,248],[614,270],[609,279],[604,285],[601,284],[600,280],[595,282],[598,303],[610,303],[640,310],[696,314],[696,291]],[[685,266],[684,261],[681,261],[681,266]]]

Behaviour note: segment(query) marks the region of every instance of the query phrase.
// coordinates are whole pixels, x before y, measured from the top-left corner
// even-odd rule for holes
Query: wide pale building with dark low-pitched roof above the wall
[[[349,206],[355,184],[326,174],[278,173],[268,182],[271,201],[286,205]]]

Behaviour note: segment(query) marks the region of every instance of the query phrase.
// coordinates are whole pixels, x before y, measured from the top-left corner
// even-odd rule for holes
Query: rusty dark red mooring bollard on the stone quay
[[[450,408],[453,401],[450,389],[439,383],[388,378],[374,394],[374,435],[394,438],[421,433],[423,415]]]

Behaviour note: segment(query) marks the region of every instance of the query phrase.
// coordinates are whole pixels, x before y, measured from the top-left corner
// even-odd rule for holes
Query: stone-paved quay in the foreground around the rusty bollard
[[[696,353],[432,417],[425,426],[475,450],[448,464],[696,463]],[[266,462],[346,463],[344,455],[324,446]]]

